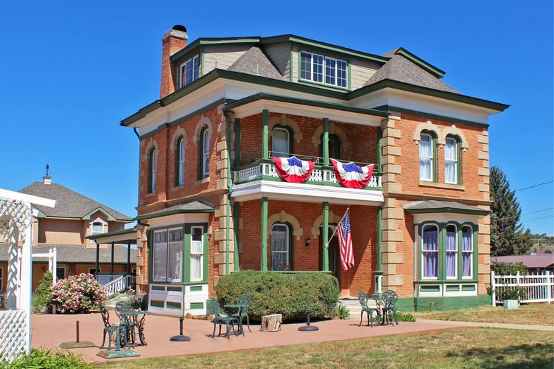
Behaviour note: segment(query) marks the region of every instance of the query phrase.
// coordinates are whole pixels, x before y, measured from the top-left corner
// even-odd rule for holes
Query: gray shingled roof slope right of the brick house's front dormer
[[[377,69],[364,86],[369,86],[382,80],[395,80],[429,89],[459,93],[428,71],[406,59],[406,57],[394,52],[387,53],[386,56],[390,56],[391,59],[381,68]]]

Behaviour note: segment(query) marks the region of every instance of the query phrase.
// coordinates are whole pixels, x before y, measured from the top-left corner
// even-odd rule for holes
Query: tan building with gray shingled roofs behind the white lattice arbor
[[[33,254],[57,251],[57,279],[78,273],[96,271],[96,244],[87,236],[118,231],[132,219],[98,201],[89,199],[60,184],[52,183],[46,174],[42,182],[31,183],[19,191],[56,200],[55,208],[35,206],[38,216],[33,226]],[[136,267],[136,250],[131,251],[132,269]],[[7,288],[8,244],[0,239],[0,289]],[[100,245],[100,273],[111,272],[111,248]],[[33,258],[33,289],[37,287],[44,271],[48,270],[47,258]],[[127,246],[114,248],[114,273],[127,271]]]

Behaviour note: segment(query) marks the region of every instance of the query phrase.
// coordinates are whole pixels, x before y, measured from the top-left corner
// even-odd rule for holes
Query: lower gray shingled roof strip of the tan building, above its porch
[[[85,247],[82,245],[66,245],[66,244],[39,244],[33,246],[33,253],[48,253],[48,249],[56,248],[56,258],[58,263],[78,262],[81,264],[96,263],[96,247]],[[136,263],[136,258],[139,252],[136,249],[131,249],[131,263]],[[8,244],[0,244],[0,262],[8,261]],[[33,261],[48,262],[47,258],[33,258]],[[111,247],[100,248],[100,262],[111,262]],[[127,246],[116,245],[114,247],[114,263],[127,263]]]

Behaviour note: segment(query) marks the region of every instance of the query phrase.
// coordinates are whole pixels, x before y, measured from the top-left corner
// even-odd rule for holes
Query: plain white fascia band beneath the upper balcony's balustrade
[[[233,186],[231,195],[236,201],[249,201],[267,197],[276,200],[323,202],[345,205],[379,206],[383,192],[355,188],[320,186],[306,183],[253,181]]]

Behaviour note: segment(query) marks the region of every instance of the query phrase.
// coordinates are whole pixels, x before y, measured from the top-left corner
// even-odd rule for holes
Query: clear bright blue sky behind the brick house
[[[229,4],[4,3],[0,188],[39,181],[49,163],[55,182],[135,215],[139,145],[118,123],[158,98],[161,36],[174,24],[190,41],[294,33],[377,54],[403,46],[458,91],[512,105],[490,118],[490,162],[512,188],[553,179],[551,1]],[[517,192],[534,233],[554,233],[553,192],[552,183]]]

